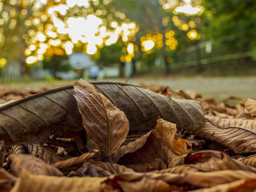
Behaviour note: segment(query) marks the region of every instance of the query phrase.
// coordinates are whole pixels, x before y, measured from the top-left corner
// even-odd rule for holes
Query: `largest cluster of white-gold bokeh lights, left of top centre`
[[[58,2],[60,4],[58,4]],[[93,4],[99,4],[99,1],[91,1]],[[44,6],[48,1],[39,0],[37,7]],[[56,3],[56,4],[55,4]],[[107,24],[104,19],[99,18],[97,15],[106,15],[105,9],[98,9],[96,14],[86,14],[82,16],[79,14],[76,16],[69,16],[67,18],[61,18],[59,15],[67,15],[69,12],[80,12],[78,7],[83,7],[83,12],[87,9],[88,12],[93,12],[94,9],[90,6],[89,0],[67,0],[65,3],[61,3],[60,0],[55,0],[55,3],[51,4],[43,12],[33,12],[33,17],[25,20],[25,25],[30,29],[23,35],[23,39],[26,40],[26,44],[29,45],[24,53],[27,56],[26,63],[34,64],[41,61],[43,55],[70,55],[73,53],[75,46],[82,45],[84,52],[89,55],[97,53],[98,49],[103,45],[112,45],[118,41],[119,38],[126,43],[128,41],[135,41],[135,34],[138,31],[138,26],[134,22],[129,22],[126,15],[122,12],[116,12],[114,15],[116,18],[120,18],[123,22],[113,20],[113,14],[108,14],[107,18],[113,20],[110,23],[112,28],[107,28]],[[108,4],[107,0],[104,0],[104,4]],[[22,14],[28,14],[26,6],[28,2],[23,4]],[[15,12],[12,12],[15,15]],[[25,18],[25,16],[24,16]],[[8,12],[4,12],[4,20],[10,20]],[[50,22],[48,22],[50,21]],[[44,23],[42,25],[42,23]],[[120,23],[119,23],[120,22]],[[12,21],[12,27],[15,26],[15,21]],[[31,26],[35,26],[31,27]],[[133,46],[133,47],[132,47]],[[57,49],[59,47],[59,49]],[[125,61],[129,61],[129,58],[134,56],[134,45],[127,44],[127,54],[125,55]]]

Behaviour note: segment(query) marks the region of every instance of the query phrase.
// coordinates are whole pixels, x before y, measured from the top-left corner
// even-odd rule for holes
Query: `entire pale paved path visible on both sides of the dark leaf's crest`
[[[143,82],[148,85],[165,85],[174,90],[197,91],[203,96],[211,96],[220,101],[228,96],[240,96],[242,98],[256,99],[255,77],[137,77],[131,79],[110,79],[100,81],[127,82],[138,85]],[[72,85],[75,80],[54,82],[28,82],[0,85],[1,88],[37,89],[42,87],[56,88],[64,85]]]

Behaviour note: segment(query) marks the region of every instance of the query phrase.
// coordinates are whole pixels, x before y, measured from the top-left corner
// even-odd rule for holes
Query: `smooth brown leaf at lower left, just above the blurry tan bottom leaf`
[[[16,176],[20,176],[22,169],[26,169],[31,174],[45,174],[63,176],[63,174],[54,166],[46,164],[39,158],[35,158],[32,155],[15,155],[9,156],[11,161],[11,170]]]

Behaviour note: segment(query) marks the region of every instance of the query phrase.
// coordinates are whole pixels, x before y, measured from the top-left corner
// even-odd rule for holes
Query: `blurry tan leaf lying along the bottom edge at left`
[[[11,192],[98,192],[105,178],[53,177],[23,171]]]

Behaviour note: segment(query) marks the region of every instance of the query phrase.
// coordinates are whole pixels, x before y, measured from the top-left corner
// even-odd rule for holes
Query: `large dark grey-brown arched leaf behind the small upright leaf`
[[[205,122],[197,101],[170,99],[123,83],[94,82],[93,85],[127,115],[129,135],[150,131],[158,116],[189,131]],[[79,135],[84,128],[72,93],[72,86],[57,88],[0,107],[0,139],[14,145]]]

